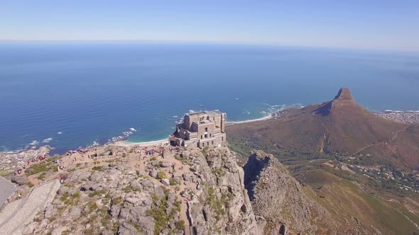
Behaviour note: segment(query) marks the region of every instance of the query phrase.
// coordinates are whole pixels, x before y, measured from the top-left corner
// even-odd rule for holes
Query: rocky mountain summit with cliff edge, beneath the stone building
[[[243,168],[227,147],[161,149],[142,156],[136,147],[99,147],[94,159],[62,156],[62,172],[49,159],[34,164],[48,172],[11,177],[23,200],[6,204],[0,227],[18,234],[262,234]],[[28,185],[38,181],[31,191]],[[43,192],[43,203],[33,191]],[[32,201],[35,209],[27,203]],[[22,206],[31,214],[16,224]]]

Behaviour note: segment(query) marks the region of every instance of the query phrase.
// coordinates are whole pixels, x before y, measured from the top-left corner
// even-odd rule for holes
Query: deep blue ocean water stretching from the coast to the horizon
[[[307,47],[0,43],[0,151],[167,137],[190,110],[251,120],[352,90],[370,110],[419,110],[419,55]]]

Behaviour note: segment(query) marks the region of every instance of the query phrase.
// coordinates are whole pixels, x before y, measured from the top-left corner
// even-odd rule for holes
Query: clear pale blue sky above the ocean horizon
[[[419,1],[0,0],[0,40],[158,40],[419,51]]]

